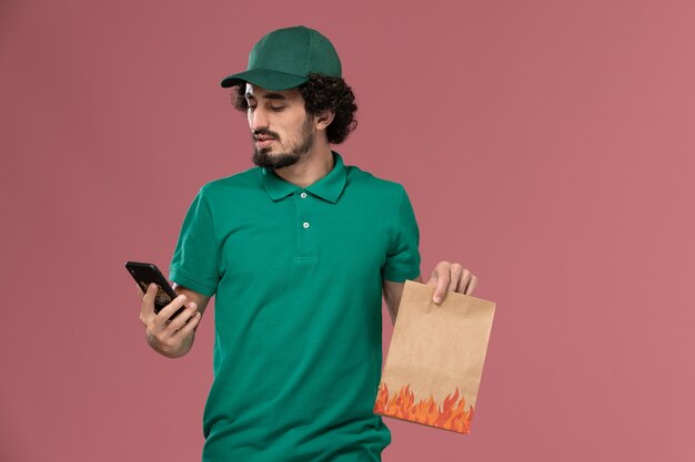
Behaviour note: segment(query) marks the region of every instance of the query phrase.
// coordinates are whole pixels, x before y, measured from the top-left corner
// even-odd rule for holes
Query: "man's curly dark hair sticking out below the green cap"
[[[329,143],[340,144],[357,126],[354,117],[357,111],[355,95],[341,78],[323,74],[309,74],[309,80],[296,88],[304,99],[304,107],[310,115],[318,115],[332,110],[335,115],[325,133]],[[232,104],[245,112],[249,104],[245,99],[246,86],[235,85],[232,90]]]

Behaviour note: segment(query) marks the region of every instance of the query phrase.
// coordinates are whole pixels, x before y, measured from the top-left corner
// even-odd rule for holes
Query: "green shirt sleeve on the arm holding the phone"
[[[218,253],[212,211],[203,188],[193,199],[181,226],[170,266],[171,280],[211,297],[220,281]]]

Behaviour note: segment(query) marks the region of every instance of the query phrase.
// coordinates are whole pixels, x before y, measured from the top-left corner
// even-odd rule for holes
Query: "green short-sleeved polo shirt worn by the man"
[[[215,296],[205,462],[366,462],[391,434],[372,412],[382,279],[420,275],[403,187],[345,166],[302,188],[254,167],[203,186],[171,279]]]

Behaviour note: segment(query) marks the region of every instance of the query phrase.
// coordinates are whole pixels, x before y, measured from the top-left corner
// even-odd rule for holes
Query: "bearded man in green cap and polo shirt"
[[[372,412],[381,297],[395,319],[405,279],[421,280],[407,195],[331,150],[356,105],[319,32],[269,33],[222,86],[248,114],[256,167],[193,201],[170,268],[180,296],[159,315],[155,287],[143,297],[149,342],[185,355],[216,296],[204,461],[379,461],[391,441]],[[441,301],[471,294],[476,279],[442,261],[429,284]]]

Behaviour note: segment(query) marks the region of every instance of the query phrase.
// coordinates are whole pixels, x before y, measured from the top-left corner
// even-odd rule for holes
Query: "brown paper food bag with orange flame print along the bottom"
[[[405,281],[374,413],[470,433],[495,304],[433,295]]]

